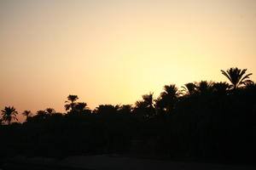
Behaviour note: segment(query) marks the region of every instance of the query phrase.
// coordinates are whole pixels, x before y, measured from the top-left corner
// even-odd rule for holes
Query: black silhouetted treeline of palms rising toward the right
[[[253,162],[256,151],[256,84],[246,69],[222,71],[227,82],[166,85],[160,96],[135,105],[99,105],[91,111],[69,95],[67,113],[48,108],[26,122],[5,107],[1,156],[70,156],[128,153],[213,161]]]

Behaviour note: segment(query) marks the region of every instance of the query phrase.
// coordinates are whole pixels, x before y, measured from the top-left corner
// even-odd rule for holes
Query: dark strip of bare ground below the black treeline
[[[63,170],[254,170],[251,165],[230,165],[218,163],[198,163],[192,161],[166,161],[141,157],[101,155],[101,156],[69,156],[64,159],[16,156],[3,161],[1,170],[5,169],[63,169]]]

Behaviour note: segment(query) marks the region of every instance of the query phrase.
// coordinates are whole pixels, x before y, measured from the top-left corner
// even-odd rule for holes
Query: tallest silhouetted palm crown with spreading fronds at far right
[[[236,68],[230,68],[227,71],[221,70],[222,74],[227,77],[230,82],[232,83],[232,88],[236,89],[239,88],[241,85],[245,85],[247,82],[251,82],[251,80],[246,80],[249,78],[253,73],[249,73],[245,75],[247,69],[238,69]]]

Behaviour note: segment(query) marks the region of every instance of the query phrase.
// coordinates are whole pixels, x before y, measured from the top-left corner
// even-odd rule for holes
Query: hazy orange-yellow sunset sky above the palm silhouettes
[[[230,67],[256,81],[255,30],[254,0],[0,0],[0,108],[134,104]]]

